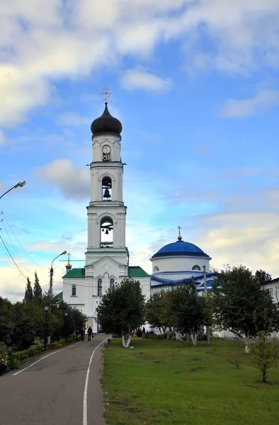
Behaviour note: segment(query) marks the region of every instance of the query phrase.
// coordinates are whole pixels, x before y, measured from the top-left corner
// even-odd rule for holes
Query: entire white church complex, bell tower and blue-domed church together
[[[85,266],[67,263],[63,293],[59,297],[86,315],[87,327],[100,330],[96,307],[108,288],[125,278],[139,280],[146,299],[157,290],[171,289],[185,280],[194,280],[200,292],[206,282],[210,289],[215,273],[210,273],[210,256],[198,246],[178,240],[163,246],[151,258],[152,274],[140,266],[130,266],[125,242],[126,206],[123,202],[122,124],[110,115],[108,104],[101,117],[91,124],[92,162],[90,202],[87,207],[88,237]]]

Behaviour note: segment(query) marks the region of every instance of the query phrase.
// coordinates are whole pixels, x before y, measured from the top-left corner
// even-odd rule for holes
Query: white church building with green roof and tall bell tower
[[[85,266],[67,264],[63,276],[63,300],[86,315],[87,327],[98,332],[96,307],[108,288],[125,278],[139,280],[142,293],[150,295],[149,275],[130,266],[125,242],[126,206],[123,202],[122,124],[110,115],[106,103],[103,115],[91,124],[91,198],[87,207],[88,238]]]

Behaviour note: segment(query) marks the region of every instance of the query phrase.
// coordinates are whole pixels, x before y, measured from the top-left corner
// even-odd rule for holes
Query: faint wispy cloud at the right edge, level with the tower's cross
[[[247,117],[261,113],[273,105],[279,104],[279,93],[274,90],[261,90],[256,96],[247,99],[228,99],[221,115],[224,117]]]

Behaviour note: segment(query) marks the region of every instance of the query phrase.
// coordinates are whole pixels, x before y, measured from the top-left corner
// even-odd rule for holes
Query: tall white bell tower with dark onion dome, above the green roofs
[[[125,244],[126,207],[123,203],[123,162],[120,154],[122,124],[110,115],[107,102],[101,117],[93,120],[91,132],[93,152],[90,164],[91,200],[87,207],[86,267],[106,256],[115,262],[115,266],[120,265],[119,273],[114,270],[113,276],[118,274],[117,279],[123,278],[127,276],[128,251]]]

